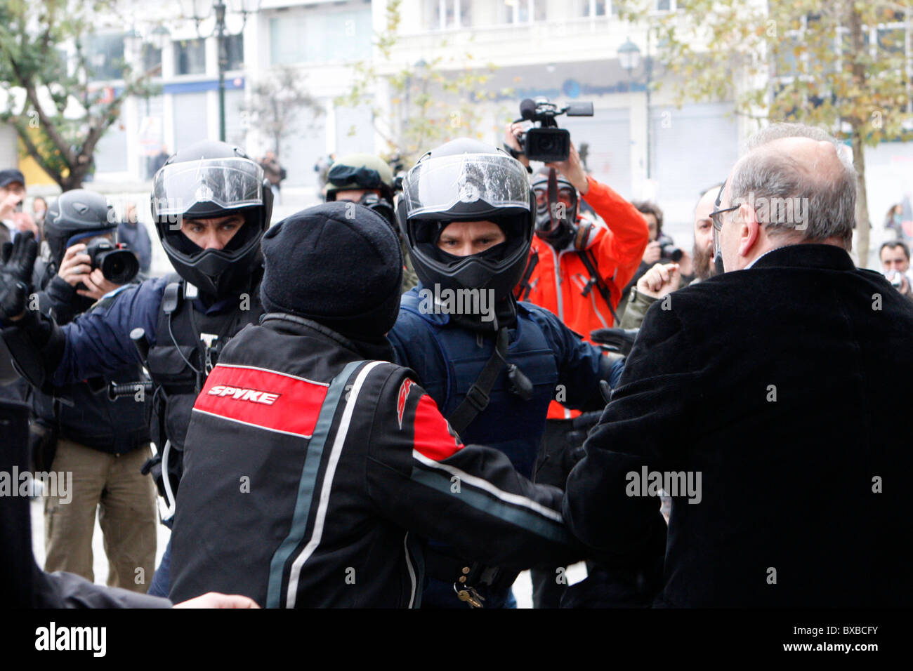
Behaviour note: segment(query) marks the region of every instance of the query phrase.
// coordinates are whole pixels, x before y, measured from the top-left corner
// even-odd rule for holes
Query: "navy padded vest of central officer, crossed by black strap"
[[[409,351],[408,365],[418,374],[425,391],[435,399],[441,414],[448,416],[466,397],[478,373],[495,350],[495,336],[449,326],[449,315],[419,310],[416,292],[404,294],[400,309],[418,319],[400,320],[394,330],[405,343],[435,343],[436,351]],[[427,329],[431,338],[417,329]],[[508,373],[501,371],[489,393],[488,407],[477,414],[460,435],[466,445],[495,447],[506,454],[525,477],[532,477],[539,452],[545,415],[555,397],[558,365],[554,346],[522,303],[517,306],[517,324],[510,330],[507,360],[517,365],[533,385],[533,397],[523,401],[510,391]]]

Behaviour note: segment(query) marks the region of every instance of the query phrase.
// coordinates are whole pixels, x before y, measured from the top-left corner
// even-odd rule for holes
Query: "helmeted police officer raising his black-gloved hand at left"
[[[40,388],[146,363],[154,384],[150,428],[159,450],[158,463],[147,468],[171,508],[196,394],[226,342],[262,313],[259,242],[273,201],[263,169],[238,147],[213,141],[170,157],[155,173],[151,200],[176,275],[121,288],[60,327],[27,309],[36,244],[30,236],[17,238],[0,267],[0,322],[26,379]],[[141,335],[137,329],[142,337],[133,341],[131,333]],[[167,573],[164,559],[158,572]],[[167,583],[157,590],[166,591]]]

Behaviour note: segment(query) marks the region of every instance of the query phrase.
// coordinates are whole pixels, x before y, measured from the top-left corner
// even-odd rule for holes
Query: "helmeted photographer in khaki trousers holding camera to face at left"
[[[47,211],[47,261],[36,263],[33,284],[42,314],[67,324],[82,312],[106,309],[103,299],[135,277],[139,264],[103,264],[121,269],[106,278],[99,266],[114,242],[117,222],[104,196],[82,189],[61,194]],[[87,250],[91,254],[87,254]],[[131,252],[117,250],[109,254]],[[115,281],[112,281],[115,280]],[[96,301],[100,301],[96,303]],[[72,472],[66,496],[45,498],[46,571],[68,571],[93,580],[92,533],[96,509],[110,565],[108,584],[146,592],[155,568],[155,490],[140,472],[151,456],[145,394],[115,401],[105,391],[111,381],[142,379],[137,364],[117,372],[36,390],[32,397],[33,459],[37,471]]]

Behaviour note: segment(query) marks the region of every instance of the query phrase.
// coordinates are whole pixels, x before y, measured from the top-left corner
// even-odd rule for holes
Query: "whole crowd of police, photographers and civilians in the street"
[[[521,132],[402,180],[334,157],[326,203],[278,223],[275,155],[197,142],[152,180],[158,278],[135,209],[80,189],[36,225],[0,172],[0,469],[73,477],[45,571],[0,496],[3,573],[28,576],[5,595],[511,608],[532,569],[540,608],[905,603],[909,250],[855,267],[840,145],[760,131],[707,175],[688,252],[573,144],[534,171]],[[87,252],[118,240],[140,269],[115,282]],[[113,591],[89,584],[97,510]]]

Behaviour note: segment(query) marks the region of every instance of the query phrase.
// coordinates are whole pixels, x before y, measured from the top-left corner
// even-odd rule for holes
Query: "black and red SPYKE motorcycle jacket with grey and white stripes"
[[[270,314],[226,346],[194,404],[170,596],[415,607],[422,539],[495,566],[558,566],[577,554],[560,509],[559,489],[463,446],[415,373]]]

